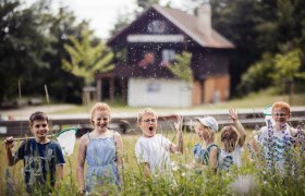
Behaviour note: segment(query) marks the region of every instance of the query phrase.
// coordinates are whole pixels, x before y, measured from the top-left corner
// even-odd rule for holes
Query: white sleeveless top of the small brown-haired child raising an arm
[[[236,145],[235,149],[232,152],[228,152],[221,149],[219,155],[219,169],[229,171],[231,166],[236,164],[237,168],[242,167],[241,154],[244,151],[244,148],[240,145]]]

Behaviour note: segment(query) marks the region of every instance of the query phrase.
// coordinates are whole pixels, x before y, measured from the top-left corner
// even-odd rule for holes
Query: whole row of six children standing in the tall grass
[[[111,109],[107,103],[98,102],[90,111],[90,122],[94,126],[93,132],[83,135],[80,139],[76,175],[78,191],[81,194],[93,192],[95,187],[105,183],[121,186],[120,170],[123,169],[122,155],[123,142],[119,133],[109,130],[111,120]],[[187,164],[195,171],[209,170],[212,172],[229,172],[235,164],[242,166],[241,154],[246,138],[246,132],[237,118],[234,109],[229,110],[229,117],[233,125],[224,126],[220,131],[220,142],[218,146],[215,135],[218,133],[219,125],[215,118],[196,118],[195,132],[200,143],[194,146],[194,162]],[[143,135],[135,144],[135,157],[142,168],[145,177],[156,174],[171,174],[170,152],[183,154],[183,133],[182,118],[175,117],[174,127],[176,131],[176,144],[157,134],[158,114],[150,108],[144,109],[138,114],[137,123]],[[263,127],[260,134],[249,139],[249,145],[254,151],[263,149],[266,156],[270,155],[267,150],[267,142],[276,139],[280,145],[274,146],[276,162],[283,163],[284,152],[282,148],[293,148],[296,131],[288,125],[290,118],[290,106],[283,101],[272,106],[270,127]],[[26,189],[47,186],[57,186],[56,180],[63,177],[64,159],[61,147],[58,143],[48,137],[49,121],[44,112],[35,112],[29,118],[29,128],[35,138],[25,140],[13,154],[14,138],[8,137],[4,140],[9,166],[14,166],[19,160],[24,161],[24,174]],[[290,143],[286,143],[289,137]],[[284,139],[284,140],[283,140]],[[263,148],[259,148],[263,146]],[[279,147],[280,146],[280,147]],[[269,149],[269,148],[268,148]],[[267,156],[268,159],[268,156]],[[85,162],[87,172],[85,175]]]

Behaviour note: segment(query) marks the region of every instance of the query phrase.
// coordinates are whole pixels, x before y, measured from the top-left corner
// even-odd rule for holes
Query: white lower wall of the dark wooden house
[[[178,79],[130,78],[127,102],[131,107],[190,107],[192,88]]]

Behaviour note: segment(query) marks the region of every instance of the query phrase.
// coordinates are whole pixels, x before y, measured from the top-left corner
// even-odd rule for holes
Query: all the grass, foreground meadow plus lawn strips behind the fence
[[[305,106],[305,94],[298,94],[293,97],[292,106]],[[276,96],[272,90],[263,90],[257,94],[251,94],[241,99],[233,99],[217,105],[205,105],[187,108],[190,110],[212,110],[228,108],[265,108],[273,101],[288,101],[289,97]],[[123,105],[112,105],[115,111],[138,111],[139,108],[129,108]],[[78,106],[73,109],[57,111],[57,113],[88,113],[89,106]],[[155,108],[154,108],[155,109]],[[168,111],[174,109],[156,108],[156,111]],[[304,127],[304,124],[303,124]],[[159,130],[159,133],[175,142],[173,131]],[[247,131],[247,139],[252,137],[252,130]],[[123,185],[121,191],[113,187],[100,187],[96,195],[101,195],[105,191],[108,195],[305,195],[305,161],[304,144],[296,147],[294,157],[288,164],[292,174],[278,173],[276,170],[267,170],[267,163],[259,157],[255,161],[249,160],[249,152],[244,146],[243,167],[233,168],[230,173],[211,174],[209,172],[200,173],[194,170],[187,170],[183,167],[174,167],[173,175],[175,185],[168,181],[167,176],[157,176],[152,180],[143,182],[141,169],[134,157],[134,146],[141,135],[122,135],[124,144],[124,170],[121,171]],[[217,144],[219,144],[219,134],[217,134]],[[193,160],[193,147],[198,143],[197,135],[194,132],[184,133],[184,154],[171,155],[171,160],[175,166],[191,163]],[[2,140],[1,140],[2,144]],[[20,144],[16,144],[19,146]],[[76,182],[76,142],[74,154],[65,158],[64,180],[53,195],[77,195]],[[26,195],[23,184],[23,162],[8,168],[4,147],[0,148],[0,195]]]

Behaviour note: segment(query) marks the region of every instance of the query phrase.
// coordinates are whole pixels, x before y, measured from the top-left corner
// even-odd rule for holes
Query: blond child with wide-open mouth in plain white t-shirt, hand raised
[[[183,154],[182,119],[178,118],[175,130],[178,134],[178,144],[171,143],[168,138],[157,133],[158,115],[146,108],[138,114],[137,123],[143,132],[135,145],[135,156],[137,162],[142,166],[145,177],[150,174],[163,173],[170,171],[169,151]]]

